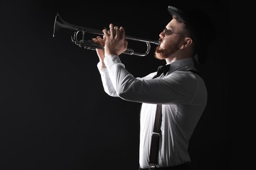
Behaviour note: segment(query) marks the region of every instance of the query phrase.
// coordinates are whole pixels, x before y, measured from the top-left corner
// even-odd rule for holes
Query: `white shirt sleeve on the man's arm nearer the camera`
[[[105,56],[104,63],[108,73],[108,77],[105,77],[108,82],[104,84],[110,85],[112,82],[112,86],[108,86],[108,93],[127,101],[152,104],[191,104],[200,88],[198,84],[202,84],[198,82],[199,78],[189,71],[177,71],[164,78],[149,78],[155,73],[144,78],[136,78],[125,69],[119,56]]]

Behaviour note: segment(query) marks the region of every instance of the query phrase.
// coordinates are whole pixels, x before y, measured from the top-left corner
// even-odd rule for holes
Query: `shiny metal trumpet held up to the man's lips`
[[[102,33],[102,31],[100,31],[98,29],[92,29],[92,28],[89,28],[89,27],[83,27],[83,26],[79,26],[79,25],[70,24],[70,23],[66,22],[65,20],[63,20],[60,17],[60,15],[57,13],[56,16],[55,16],[55,20],[54,20],[53,37],[55,37],[56,32],[60,28],[72,29],[72,30],[75,31],[74,35],[71,36],[71,40],[77,46],[85,48],[87,50],[96,50],[96,48],[104,50],[104,46],[100,45],[99,43],[94,42],[92,40],[85,40],[85,33],[91,33],[91,34],[95,34],[95,35],[104,35]],[[78,38],[79,35],[81,35],[80,36],[81,39]],[[148,39],[140,39],[140,38],[137,38],[137,37],[130,37],[130,36],[125,36],[125,40],[131,40],[131,41],[138,41],[138,42],[146,43],[146,52],[143,52],[143,53],[142,52],[135,52],[135,50],[133,50],[133,48],[127,48],[127,50],[125,50],[125,52],[123,52],[123,54],[129,54],[129,55],[135,55],[135,56],[146,56],[150,52],[150,44],[156,44],[156,45],[160,44],[159,41],[152,41],[152,40],[148,40]]]

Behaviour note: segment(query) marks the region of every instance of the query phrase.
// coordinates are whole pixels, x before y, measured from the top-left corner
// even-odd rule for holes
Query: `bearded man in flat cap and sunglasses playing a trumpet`
[[[109,31],[102,31],[103,39],[93,39],[104,46],[96,52],[105,92],[142,103],[139,169],[189,169],[188,143],[207,104],[207,88],[195,62],[205,62],[207,45],[214,37],[213,25],[201,10],[171,6],[168,10],[172,18],[160,33],[155,52],[156,58],[165,59],[166,73],[158,71],[136,78],[125,69],[119,59],[128,44],[123,27],[110,24]],[[154,131],[158,106],[160,133]],[[155,135],[159,137],[156,160],[150,148]]]

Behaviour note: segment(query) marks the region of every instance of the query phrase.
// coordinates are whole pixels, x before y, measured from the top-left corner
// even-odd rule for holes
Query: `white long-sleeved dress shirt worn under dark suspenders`
[[[192,58],[174,61],[167,75],[153,78],[156,72],[134,77],[119,56],[106,56],[106,68],[98,70],[104,91],[113,97],[142,103],[140,110],[140,168],[149,168],[151,136],[156,105],[162,104],[160,150],[157,167],[189,162],[188,142],[207,104],[207,89],[194,69]]]

